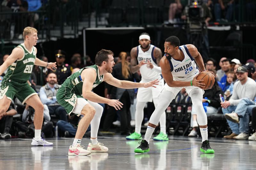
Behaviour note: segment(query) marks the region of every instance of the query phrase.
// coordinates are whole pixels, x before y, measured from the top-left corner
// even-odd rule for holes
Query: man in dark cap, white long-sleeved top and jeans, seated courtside
[[[228,101],[221,102],[222,112],[225,115],[226,113],[232,113],[236,110],[237,105],[243,98],[248,98],[253,100],[256,95],[256,82],[251,78],[248,78],[247,68],[240,66],[237,68],[236,77],[239,81],[234,84],[233,94]],[[233,114],[232,114],[233,115]],[[244,123],[244,122],[240,122]],[[231,139],[239,134],[239,125],[228,120],[228,125],[232,130],[232,134],[224,136],[224,138]],[[241,130],[241,129],[240,129]],[[241,133],[243,131],[240,131]],[[242,135],[244,136],[244,135]]]

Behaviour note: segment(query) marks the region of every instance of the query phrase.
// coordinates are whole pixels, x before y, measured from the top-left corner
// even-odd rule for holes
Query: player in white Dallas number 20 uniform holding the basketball
[[[196,80],[199,71],[196,63],[202,71],[205,71],[204,62],[197,48],[192,44],[180,46],[178,37],[171,36],[164,42],[165,55],[160,61],[162,75],[165,80],[164,89],[160,94],[160,103],[151,115],[145,138],[139,142],[140,146],[134,150],[136,153],[149,152],[149,139],[154,132],[159,119],[170,102],[184,87],[195,105],[197,122],[202,135],[201,152],[214,153],[208,141],[207,116],[203,107],[204,80]],[[195,63],[196,62],[196,63]],[[202,89],[201,89],[202,88]]]

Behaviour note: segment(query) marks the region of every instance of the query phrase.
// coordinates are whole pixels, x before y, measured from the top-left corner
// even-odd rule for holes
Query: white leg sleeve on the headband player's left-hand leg
[[[141,123],[144,117],[144,107],[147,102],[137,101],[135,111],[135,132],[140,134]]]

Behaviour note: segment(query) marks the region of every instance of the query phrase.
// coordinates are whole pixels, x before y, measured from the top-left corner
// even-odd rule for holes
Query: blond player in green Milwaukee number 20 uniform
[[[41,138],[44,105],[37,93],[28,85],[33,66],[43,66],[48,69],[56,69],[55,63],[46,63],[36,58],[37,30],[26,27],[23,30],[24,43],[12,50],[12,54],[0,66],[0,75],[8,68],[0,89],[0,119],[5,115],[14,95],[22,102],[35,109],[34,125],[35,137],[32,145],[51,146],[52,143]]]

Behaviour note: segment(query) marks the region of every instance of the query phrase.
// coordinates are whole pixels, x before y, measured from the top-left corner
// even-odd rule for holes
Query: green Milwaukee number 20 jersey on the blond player
[[[23,57],[16,60],[11,64],[11,66],[8,67],[3,81],[13,80],[17,82],[26,82],[30,78],[36,60],[35,48],[33,47],[32,51],[29,52],[24,43],[18,45],[17,48],[23,49]]]

